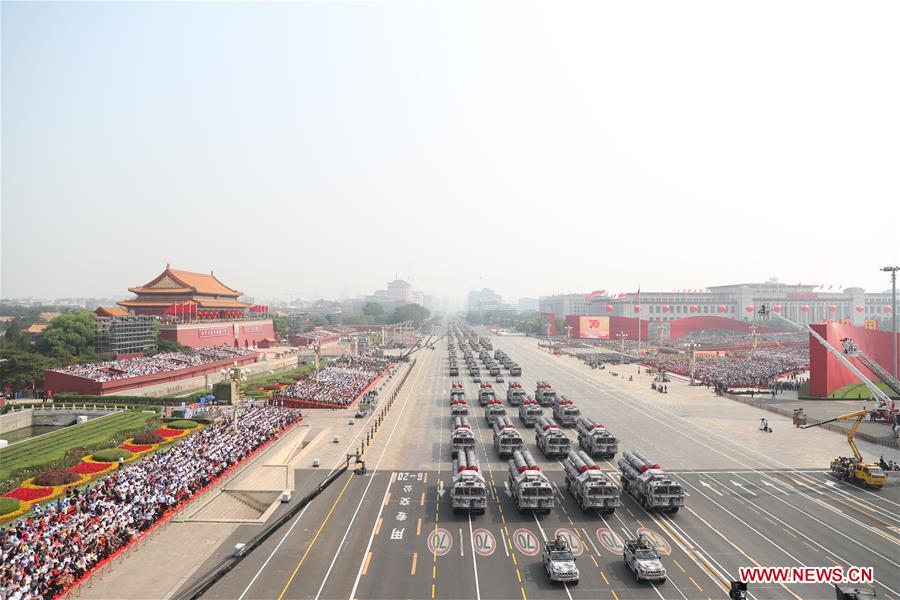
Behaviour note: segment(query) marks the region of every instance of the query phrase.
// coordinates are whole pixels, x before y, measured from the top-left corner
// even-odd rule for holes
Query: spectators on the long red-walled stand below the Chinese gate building
[[[53,369],[57,373],[66,373],[84,377],[91,381],[112,381],[128,379],[142,375],[154,375],[168,371],[177,371],[188,367],[196,367],[217,360],[231,359],[252,354],[254,350],[236,346],[211,346],[200,348],[195,352],[162,352],[155,356],[142,356],[122,360],[109,360],[101,363],[70,365]]]

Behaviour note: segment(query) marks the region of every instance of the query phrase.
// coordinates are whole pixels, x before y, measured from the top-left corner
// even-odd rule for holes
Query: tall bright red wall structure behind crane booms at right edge
[[[837,349],[842,347],[841,340],[845,338],[852,339],[860,351],[878,363],[878,365],[881,365],[883,369],[889,373],[891,372],[892,333],[890,331],[873,331],[842,323],[815,323],[811,327]],[[900,334],[897,337],[897,341],[900,342]],[[880,379],[876,373],[868,369],[858,358],[849,355],[846,358],[872,381]],[[875,368],[877,368],[877,365]],[[855,383],[859,383],[856,376],[829,353],[822,344],[810,336],[809,395],[828,398],[836,390]]]

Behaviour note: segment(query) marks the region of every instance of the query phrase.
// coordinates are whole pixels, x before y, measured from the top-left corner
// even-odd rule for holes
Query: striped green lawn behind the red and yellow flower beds
[[[61,461],[73,448],[98,447],[120,434],[143,431],[157,417],[140,411],[115,413],[0,449],[0,482],[9,480],[17,470]]]

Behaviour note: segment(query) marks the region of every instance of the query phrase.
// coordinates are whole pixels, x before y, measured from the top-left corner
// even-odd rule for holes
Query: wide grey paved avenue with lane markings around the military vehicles
[[[533,339],[493,340],[523,367],[518,380],[527,389],[537,379],[550,381],[585,414],[599,417],[620,438],[620,449],[639,449],[671,469],[687,491],[685,509],[650,514],[623,497],[612,516],[584,513],[563,491],[561,465],[545,459],[531,431],[520,427],[557,487],[557,502],[549,515],[519,513],[505,491],[506,462],[496,456],[475,402],[470,422],[489,483],[488,510],[454,514],[446,493],[451,378],[441,342],[434,352],[418,353],[418,365],[366,454],[370,475],[338,479],[207,596],[721,598],[741,566],[859,565],[874,567],[879,598],[900,599],[898,480],[878,492],[833,481],[821,466],[827,464],[823,457],[846,444],[838,434],[799,437],[785,426],[777,429],[783,435],[761,441],[765,434],[753,435],[752,424],[758,414],[770,413],[733,402],[703,413],[698,407],[709,400],[690,395],[699,390],[657,398],[649,393],[649,379],[644,386],[592,371],[540,351]],[[476,385],[460,379],[471,404]],[[618,477],[613,461],[602,467]],[[312,480],[309,472],[297,475],[298,481]],[[253,531],[239,531],[219,555]],[[622,540],[639,532],[654,536],[664,553],[670,578],[662,585],[635,583],[622,564]],[[556,533],[567,535],[579,555],[578,586],[550,585],[542,570],[540,542]],[[750,591],[758,599],[834,597],[824,584],[756,585]]]

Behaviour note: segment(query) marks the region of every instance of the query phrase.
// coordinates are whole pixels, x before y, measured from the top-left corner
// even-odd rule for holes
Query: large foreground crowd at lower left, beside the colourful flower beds
[[[0,599],[52,598],[246,458],[300,411],[248,407],[0,528]],[[71,493],[70,493],[71,492]]]

